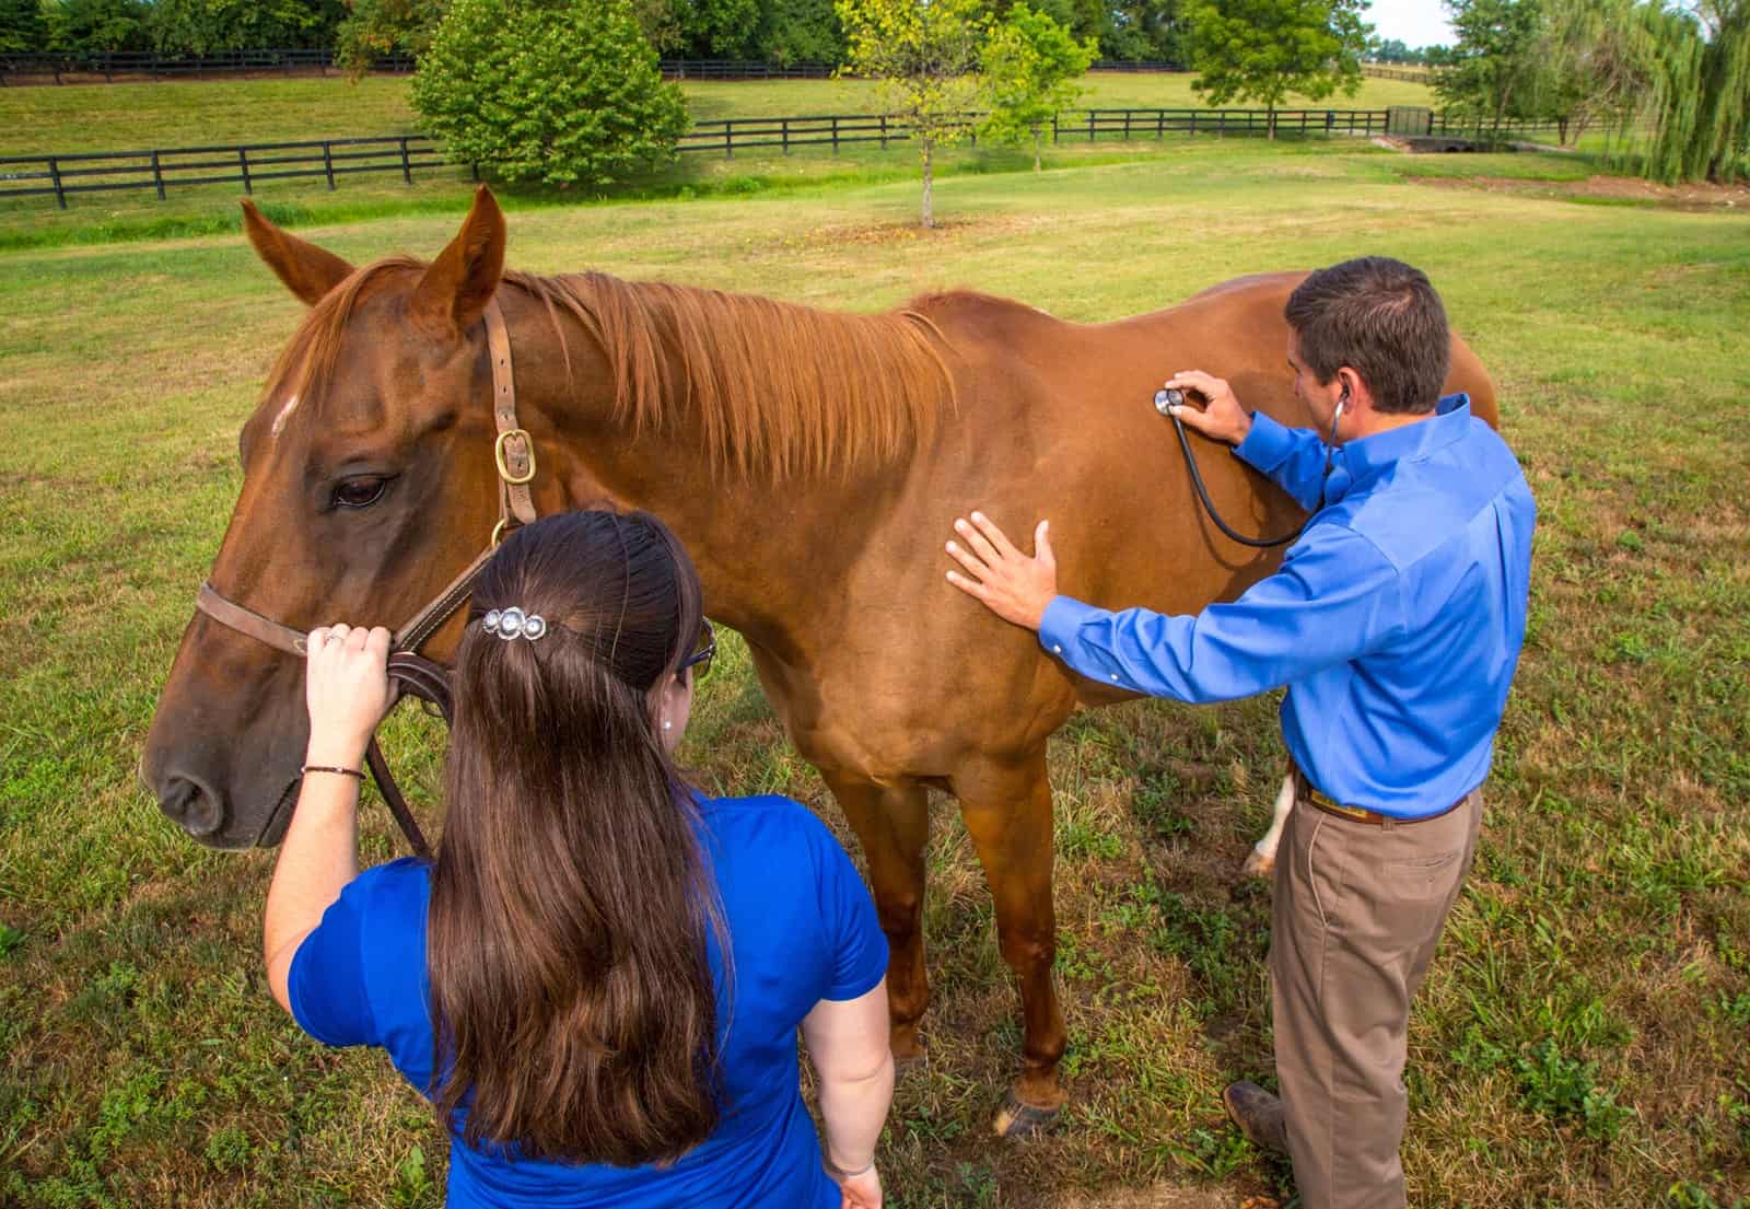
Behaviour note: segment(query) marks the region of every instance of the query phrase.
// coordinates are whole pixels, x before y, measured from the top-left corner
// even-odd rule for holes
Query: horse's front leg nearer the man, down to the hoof
[[[1057,1064],[1068,1032],[1052,982],[1057,915],[1052,906],[1052,786],[1045,745],[1018,763],[982,761],[954,779],[961,817],[978,849],[1003,961],[1020,987],[1022,1066],[996,1116],[996,1132],[1022,1137],[1046,1127],[1066,1095]]]

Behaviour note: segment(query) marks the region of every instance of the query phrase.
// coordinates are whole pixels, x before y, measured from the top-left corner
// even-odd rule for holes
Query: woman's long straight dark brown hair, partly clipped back
[[[546,635],[480,625],[508,607]],[[427,931],[434,1106],[471,1146],[635,1165],[718,1123],[716,899],[651,716],[700,618],[642,513],[520,528],[474,588]]]

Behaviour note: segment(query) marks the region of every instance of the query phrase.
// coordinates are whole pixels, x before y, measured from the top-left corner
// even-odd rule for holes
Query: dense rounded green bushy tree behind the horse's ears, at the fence
[[[553,185],[670,159],[688,124],[628,0],[453,0],[413,108],[457,159]]]

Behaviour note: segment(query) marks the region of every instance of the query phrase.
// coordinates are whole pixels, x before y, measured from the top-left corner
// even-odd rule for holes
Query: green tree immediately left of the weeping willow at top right
[[[1530,117],[1547,80],[1542,0],[1444,0],[1458,42],[1433,91],[1447,108],[1488,121]]]

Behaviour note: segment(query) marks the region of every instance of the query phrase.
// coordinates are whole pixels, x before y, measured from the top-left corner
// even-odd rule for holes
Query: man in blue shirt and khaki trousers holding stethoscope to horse
[[[1027,558],[980,513],[948,581],[1082,675],[1178,700],[1283,684],[1297,808],[1276,864],[1270,978],[1281,1099],[1227,1088],[1246,1136],[1293,1158],[1307,1209],[1398,1209],[1409,1004],[1475,850],[1479,786],[1524,639],[1536,507],[1505,443],[1440,399],[1446,310],[1367,257],[1288,299],[1288,364],[1318,432],[1248,415],[1228,383],[1178,416],[1309,513],[1281,569],[1197,616],[1057,595],[1046,521]],[[1334,448],[1332,448],[1334,446]]]

